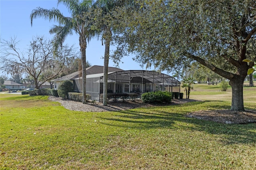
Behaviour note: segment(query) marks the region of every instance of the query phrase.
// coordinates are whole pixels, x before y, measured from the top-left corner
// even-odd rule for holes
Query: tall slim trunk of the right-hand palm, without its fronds
[[[103,106],[108,104],[107,95],[108,95],[108,61],[109,61],[109,48],[111,41],[111,32],[110,29],[107,29],[105,34],[105,53],[104,53],[104,73],[103,73]]]

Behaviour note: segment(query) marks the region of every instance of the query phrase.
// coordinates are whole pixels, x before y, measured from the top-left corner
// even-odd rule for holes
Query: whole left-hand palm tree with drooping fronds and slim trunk
[[[92,0],[58,0],[58,4],[64,4],[70,11],[71,17],[65,17],[60,10],[52,8],[50,10],[43,8],[36,8],[30,14],[31,26],[33,19],[44,18],[50,21],[54,20],[59,22],[59,26],[54,26],[50,29],[51,34],[54,36],[54,49],[55,51],[68,35],[73,32],[79,35],[79,45],[82,57],[82,103],[86,103],[86,47],[87,41],[94,36],[94,32],[90,29],[93,17],[88,17],[88,12],[92,7]]]

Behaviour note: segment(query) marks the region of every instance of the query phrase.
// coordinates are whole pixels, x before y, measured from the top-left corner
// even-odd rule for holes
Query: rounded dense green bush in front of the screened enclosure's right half
[[[155,91],[142,95],[144,103],[171,103],[172,93],[168,91]]]

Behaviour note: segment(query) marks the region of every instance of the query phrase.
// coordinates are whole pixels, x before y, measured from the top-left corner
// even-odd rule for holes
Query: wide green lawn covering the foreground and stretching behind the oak
[[[229,91],[206,87],[195,85],[190,97],[202,93],[207,101],[102,113],[69,111],[46,96],[0,94],[0,168],[256,169],[255,123],[184,117],[230,108]],[[248,109],[256,109],[252,88],[244,91]]]

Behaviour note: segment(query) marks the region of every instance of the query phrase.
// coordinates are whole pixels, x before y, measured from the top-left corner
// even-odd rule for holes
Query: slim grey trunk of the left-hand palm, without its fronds
[[[82,103],[86,103],[86,39],[83,36],[79,37],[79,45],[82,56]]]

